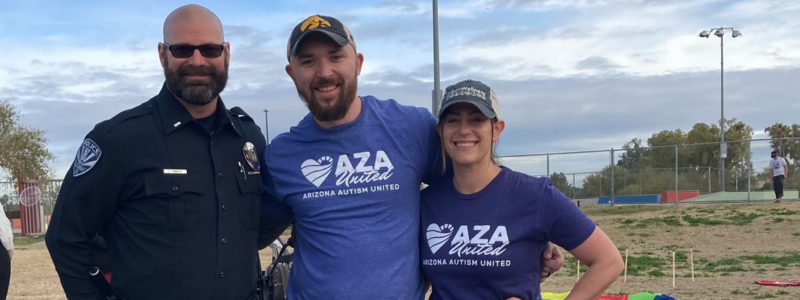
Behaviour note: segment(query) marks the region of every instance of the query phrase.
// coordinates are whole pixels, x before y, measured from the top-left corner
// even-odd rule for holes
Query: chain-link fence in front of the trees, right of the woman
[[[517,155],[501,157],[501,163],[549,176],[559,190],[587,204],[774,201],[770,152],[777,149],[788,164],[782,199],[795,200],[800,177],[793,175],[800,164],[794,145],[800,138]],[[726,154],[724,168],[720,153]]]

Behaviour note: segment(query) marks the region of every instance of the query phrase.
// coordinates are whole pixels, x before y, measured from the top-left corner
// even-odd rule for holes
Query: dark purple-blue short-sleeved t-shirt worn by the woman
[[[452,177],[422,191],[422,270],[437,299],[541,299],[548,242],[572,250],[595,228],[548,178],[502,167],[480,192],[464,195]]]

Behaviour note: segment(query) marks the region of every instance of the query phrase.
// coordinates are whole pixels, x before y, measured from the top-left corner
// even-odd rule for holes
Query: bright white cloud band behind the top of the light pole
[[[644,2],[634,1],[639,4]],[[601,4],[604,6],[601,13],[584,15],[583,19],[569,27],[576,29],[551,28],[543,34],[519,35],[507,43],[485,43],[470,47],[450,45],[445,50],[451,53],[448,61],[468,63],[477,58],[492,59],[498,61],[496,66],[483,69],[483,72],[504,79],[591,76],[605,73],[577,67],[579,62],[592,57],[612,61],[618,65],[614,71],[636,76],[719,69],[719,47],[715,47],[718,45],[718,38],[699,38],[698,33],[707,27],[701,25],[704,22],[682,17],[701,8],[703,2],[667,2],[652,7],[627,6],[622,4],[628,3],[615,2],[572,2],[572,5],[578,7]],[[612,7],[611,4],[619,5]],[[547,7],[555,4],[537,1],[530,5]],[[759,8],[767,9],[772,6],[747,6],[747,9]],[[794,37],[794,29],[800,27],[800,21],[796,17],[790,17],[794,12],[800,14],[800,10],[793,7],[788,9],[790,12],[783,11],[777,16],[771,11],[759,11],[761,18],[758,21],[731,20],[732,23],[742,24],[737,28],[744,36],[732,39],[730,32],[727,33],[726,70],[800,65],[800,39]],[[734,6],[731,10],[744,9]],[[728,10],[721,14],[725,15],[726,11]],[[749,16],[753,14],[751,12]],[[787,26],[772,26],[771,22],[776,17]],[[564,35],[568,32],[577,33],[578,37]],[[502,33],[500,31],[498,35]]]

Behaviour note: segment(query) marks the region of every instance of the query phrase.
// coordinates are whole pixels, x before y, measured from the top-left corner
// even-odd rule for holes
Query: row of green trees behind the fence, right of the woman
[[[751,162],[753,128],[742,121],[725,120],[725,190],[770,190],[769,168]],[[675,189],[675,145],[678,145],[678,188],[699,190],[701,193],[720,191],[720,128],[716,124],[697,123],[691,130],[663,130],[652,134],[647,141],[634,138],[625,143],[620,158],[614,166],[606,166],[597,173],[585,176],[573,186],[567,174],[550,175],[555,187],[571,197],[598,197],[611,195],[661,194]],[[800,125],[773,124],[764,129],[770,137],[769,146],[783,156],[789,173],[786,188],[800,187]],[[616,157],[616,155],[615,155]],[[768,159],[768,157],[766,158]],[[611,186],[612,168],[614,173]],[[748,177],[748,172],[750,177]],[[752,185],[758,184],[758,186]]]

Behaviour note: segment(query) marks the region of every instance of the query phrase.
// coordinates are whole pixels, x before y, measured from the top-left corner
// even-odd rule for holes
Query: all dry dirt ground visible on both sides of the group
[[[800,287],[753,283],[755,280],[800,278],[800,259],[794,260],[800,257],[800,202],[590,207],[584,210],[611,236],[623,256],[628,247],[629,272],[634,268],[634,259],[656,258],[655,265],[642,266],[642,272],[638,276],[629,275],[627,282],[620,276],[607,294],[665,293],[681,300],[800,299]],[[700,224],[691,226],[686,220]],[[694,281],[686,256],[690,248],[694,256]],[[672,286],[673,250],[683,254],[676,256],[679,258],[676,259],[675,287]],[[753,255],[760,255],[766,261],[756,264],[745,258]],[[563,293],[575,284],[577,262],[569,254],[566,256],[568,263],[542,284],[542,291]],[[271,261],[269,248],[261,252],[261,257],[264,265]],[[774,263],[770,261],[772,258]],[[729,266],[723,263],[731,260],[734,263]],[[737,265],[736,261],[743,262]],[[714,264],[716,269],[710,267]],[[42,243],[17,246],[8,299],[66,299]]]

